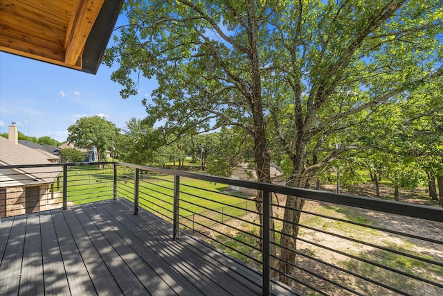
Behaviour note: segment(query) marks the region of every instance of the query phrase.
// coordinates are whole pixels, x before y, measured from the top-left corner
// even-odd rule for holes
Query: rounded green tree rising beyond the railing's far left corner
[[[94,115],[82,117],[68,128],[67,140],[77,147],[91,148],[95,146],[98,161],[105,159],[105,151],[110,150],[118,129],[114,123],[103,117]]]

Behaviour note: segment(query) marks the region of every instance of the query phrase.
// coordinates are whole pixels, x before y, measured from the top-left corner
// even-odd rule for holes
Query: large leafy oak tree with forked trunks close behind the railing
[[[243,128],[260,182],[270,182],[268,134],[290,159],[287,184],[307,187],[361,148],[347,131],[380,105],[441,84],[440,1],[129,0],[124,12],[129,24],[105,55],[119,65],[112,79],[123,98],[137,93],[134,77],[155,77],[145,106],[165,130]],[[288,284],[304,202],[287,197],[278,269]]]

